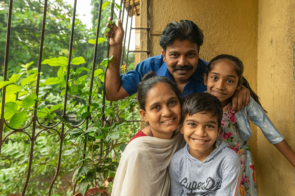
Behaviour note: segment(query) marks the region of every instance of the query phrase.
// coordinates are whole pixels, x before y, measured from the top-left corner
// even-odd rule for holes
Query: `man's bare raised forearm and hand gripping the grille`
[[[109,22],[106,26],[112,28],[108,33],[105,33],[105,35],[110,37],[110,55],[113,55],[113,58],[109,62],[108,70],[106,71],[106,99],[116,101],[129,96],[121,86],[120,77],[120,61],[124,29],[122,27],[121,19],[118,20],[118,26],[116,24],[110,25]]]

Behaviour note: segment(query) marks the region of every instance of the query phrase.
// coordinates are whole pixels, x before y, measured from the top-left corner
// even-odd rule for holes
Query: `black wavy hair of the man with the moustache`
[[[198,50],[203,44],[204,35],[202,30],[190,20],[173,21],[167,24],[160,37],[160,46],[166,51],[167,46],[171,46],[175,40],[189,40],[196,43]]]

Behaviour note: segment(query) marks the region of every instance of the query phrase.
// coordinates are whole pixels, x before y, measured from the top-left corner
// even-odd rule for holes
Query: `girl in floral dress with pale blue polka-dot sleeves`
[[[257,195],[255,165],[249,149],[248,140],[252,134],[248,118],[257,125],[268,141],[289,160],[295,167],[295,153],[284,140],[283,135],[275,128],[261,107],[258,96],[252,91],[246,79],[242,76],[244,66],[235,56],[221,54],[213,58],[204,74],[204,84],[207,91],[219,98],[223,107],[222,128],[219,140],[230,145],[240,157],[241,171],[240,194]],[[244,85],[250,91],[250,102],[238,113],[224,109],[235,90]]]

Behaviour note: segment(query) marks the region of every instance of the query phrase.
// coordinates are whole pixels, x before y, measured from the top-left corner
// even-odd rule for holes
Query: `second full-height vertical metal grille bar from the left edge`
[[[39,50],[39,60],[38,60],[38,75],[37,75],[37,85],[36,85],[37,97],[39,94],[39,82],[40,82],[40,71],[41,71],[41,61],[42,61],[43,42],[44,42],[45,22],[46,22],[46,11],[47,11],[47,0],[45,0],[44,2],[43,21],[42,21],[42,30],[41,30],[41,40],[40,40],[40,50]],[[37,105],[38,105],[38,102],[36,101],[35,107],[34,107],[35,109],[37,108]],[[27,185],[29,183],[30,175],[31,175],[33,150],[34,150],[34,142],[35,142],[36,120],[37,120],[37,110],[34,110],[29,167],[28,167],[27,180],[22,190],[22,195],[24,195],[26,192]]]

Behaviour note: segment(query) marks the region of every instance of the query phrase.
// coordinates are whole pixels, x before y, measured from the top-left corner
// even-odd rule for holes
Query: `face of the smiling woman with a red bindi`
[[[139,112],[150,123],[154,137],[170,139],[180,124],[181,104],[169,85],[159,83],[148,91],[145,111],[140,109]]]

